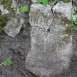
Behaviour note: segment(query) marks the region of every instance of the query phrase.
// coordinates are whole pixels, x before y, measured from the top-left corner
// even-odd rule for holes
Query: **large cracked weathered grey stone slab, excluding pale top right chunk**
[[[72,55],[72,35],[66,32],[66,27],[72,24],[60,19],[62,11],[61,15],[57,16],[50,9],[50,5],[44,7],[42,4],[32,4],[29,13],[32,26],[31,50],[26,57],[26,68],[38,76],[45,77],[60,74],[68,69]],[[68,16],[66,18],[69,20]]]

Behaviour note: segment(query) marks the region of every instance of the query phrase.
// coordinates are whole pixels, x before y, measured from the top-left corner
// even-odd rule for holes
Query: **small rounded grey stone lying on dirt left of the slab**
[[[8,36],[15,37],[19,33],[23,22],[23,19],[11,18],[4,27],[5,33]]]

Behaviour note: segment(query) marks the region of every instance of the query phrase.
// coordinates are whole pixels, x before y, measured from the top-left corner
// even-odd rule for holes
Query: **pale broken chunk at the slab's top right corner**
[[[60,1],[53,7],[53,12],[61,13],[62,17],[71,19],[71,13],[72,13],[71,9],[72,9],[72,2],[64,3],[63,1]]]

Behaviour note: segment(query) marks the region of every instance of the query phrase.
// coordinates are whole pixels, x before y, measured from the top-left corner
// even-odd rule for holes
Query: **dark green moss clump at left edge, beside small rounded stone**
[[[3,28],[5,27],[7,20],[7,15],[2,15],[2,12],[0,10],[0,33],[3,31]]]

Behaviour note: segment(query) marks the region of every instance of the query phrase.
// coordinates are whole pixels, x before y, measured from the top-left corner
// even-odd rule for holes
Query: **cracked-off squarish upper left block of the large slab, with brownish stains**
[[[51,12],[50,5],[46,7],[42,4],[32,4],[29,13],[29,22],[31,26],[42,28],[47,30],[53,20],[53,14]],[[32,22],[33,21],[33,22]],[[41,22],[41,23],[40,23]]]

